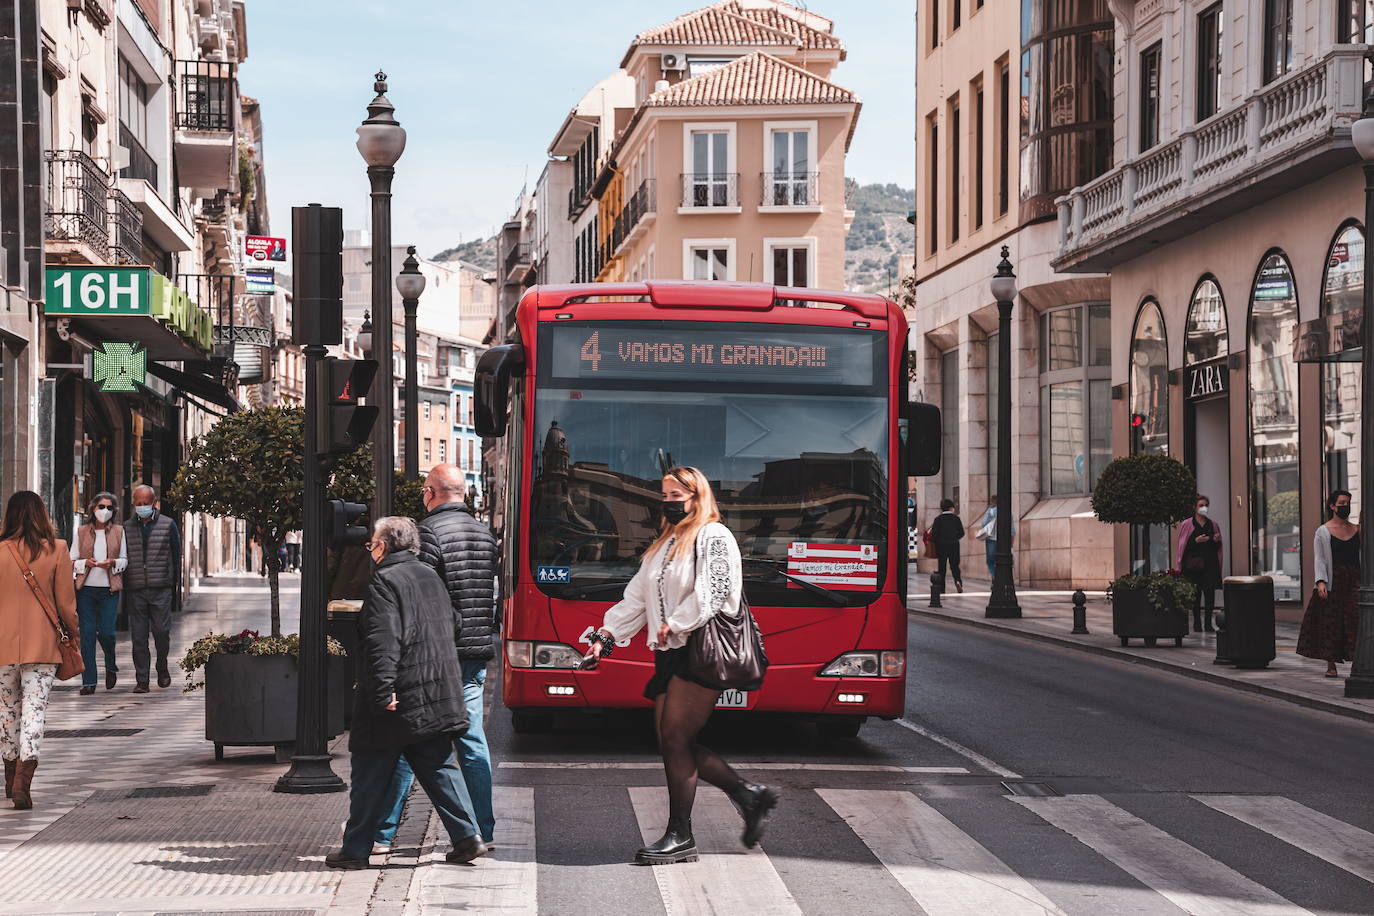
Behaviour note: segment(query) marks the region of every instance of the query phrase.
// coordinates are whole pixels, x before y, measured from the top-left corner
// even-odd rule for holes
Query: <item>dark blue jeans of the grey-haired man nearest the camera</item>
[[[349,858],[367,858],[372,851],[378,824],[392,808],[387,790],[396,784],[396,765],[403,759],[438,812],[449,842],[456,846],[477,834],[467,786],[453,762],[453,744],[445,736],[436,735],[394,750],[353,751],[353,786],[348,824],[344,828],[344,854]]]

